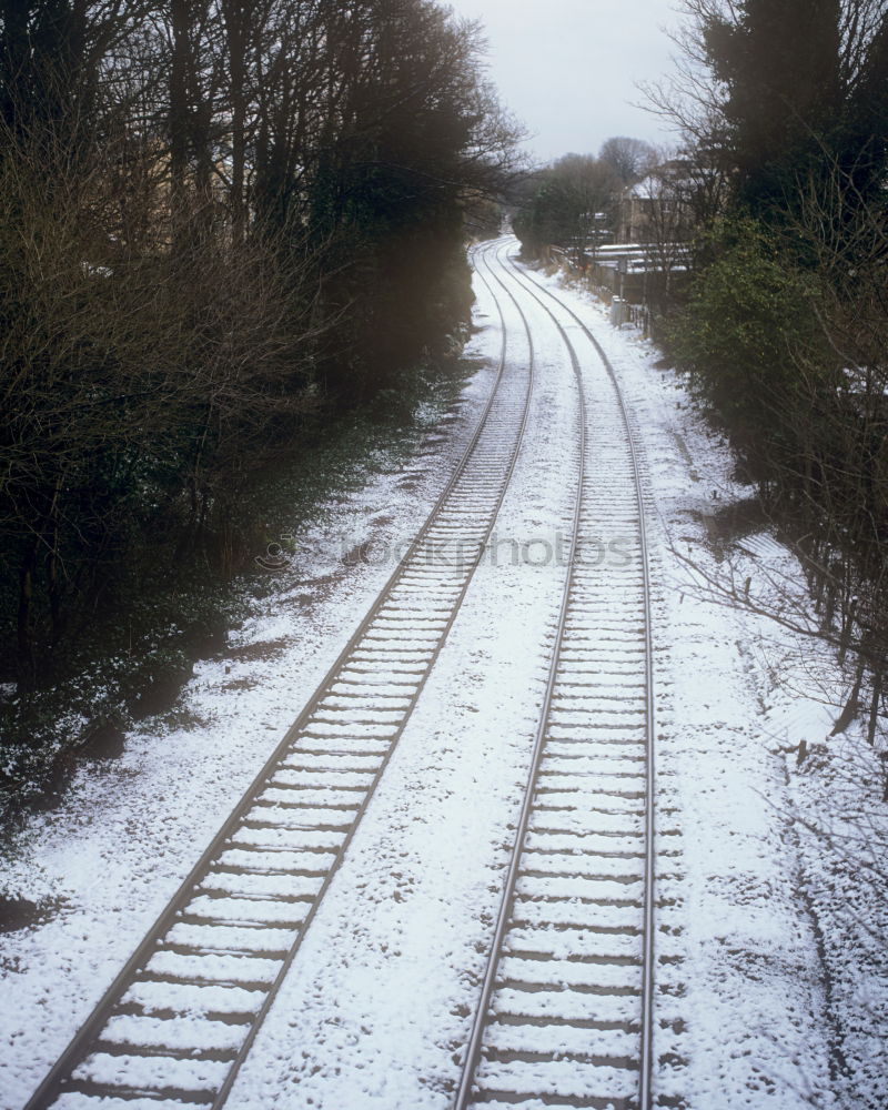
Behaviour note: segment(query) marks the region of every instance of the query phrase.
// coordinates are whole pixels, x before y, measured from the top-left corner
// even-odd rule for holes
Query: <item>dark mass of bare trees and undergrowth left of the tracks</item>
[[[0,0],[0,679],[468,310],[516,131],[431,0]],[[314,418],[314,417],[313,417]]]

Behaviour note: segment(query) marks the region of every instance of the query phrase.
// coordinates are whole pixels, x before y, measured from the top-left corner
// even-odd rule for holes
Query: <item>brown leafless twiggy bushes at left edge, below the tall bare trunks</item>
[[[128,253],[94,219],[113,151],[72,170],[51,131],[0,139],[0,666],[21,689],[54,680],[132,551],[224,529],[314,402],[310,297],[266,244]]]

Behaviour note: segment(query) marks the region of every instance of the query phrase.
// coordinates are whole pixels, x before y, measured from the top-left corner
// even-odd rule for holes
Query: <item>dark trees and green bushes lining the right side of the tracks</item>
[[[652,90],[728,182],[672,346],[795,538],[874,740],[888,667],[888,4],[687,0]],[[886,780],[888,790],[888,779]]]

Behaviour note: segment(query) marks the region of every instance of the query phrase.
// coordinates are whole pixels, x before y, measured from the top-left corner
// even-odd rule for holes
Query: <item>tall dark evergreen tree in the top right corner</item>
[[[714,137],[737,198],[768,219],[794,213],[807,182],[849,175],[861,200],[886,171],[888,13],[868,0],[740,0],[703,6],[715,79]]]

